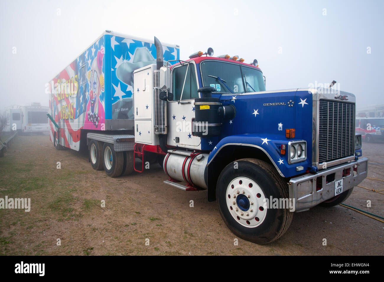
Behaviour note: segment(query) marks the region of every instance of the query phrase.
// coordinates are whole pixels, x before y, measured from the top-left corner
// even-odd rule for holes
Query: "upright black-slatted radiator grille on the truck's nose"
[[[319,163],[353,155],[355,104],[319,101]]]

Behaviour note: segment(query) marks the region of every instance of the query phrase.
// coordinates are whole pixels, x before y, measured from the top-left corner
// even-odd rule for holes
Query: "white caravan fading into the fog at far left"
[[[5,108],[7,117],[6,131],[18,131],[22,133],[49,132],[48,117],[49,107],[40,103],[26,104],[25,106],[13,105]]]

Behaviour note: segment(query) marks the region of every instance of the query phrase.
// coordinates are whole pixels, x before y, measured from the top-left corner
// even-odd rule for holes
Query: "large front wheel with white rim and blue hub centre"
[[[269,163],[253,158],[237,160],[217,180],[216,199],[224,223],[238,237],[267,244],[291,224],[289,207],[271,208],[264,199],[288,199],[288,186]]]

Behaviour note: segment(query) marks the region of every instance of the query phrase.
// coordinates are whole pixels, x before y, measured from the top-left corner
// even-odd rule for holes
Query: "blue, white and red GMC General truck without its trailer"
[[[103,131],[81,129],[94,169],[129,175],[157,160],[168,176],[164,183],[207,190],[228,228],[257,244],[282,236],[293,212],[337,205],[366,178],[353,94],[266,91],[257,60],[214,57],[209,48],[164,61],[162,44],[157,38],[152,43],[156,62],[129,77],[130,118]],[[116,87],[104,83],[103,91],[111,91],[104,97],[116,96]]]

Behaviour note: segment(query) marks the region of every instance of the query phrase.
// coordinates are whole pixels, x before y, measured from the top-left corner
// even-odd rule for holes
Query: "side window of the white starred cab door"
[[[187,74],[187,76],[185,76],[185,74]],[[172,79],[173,101],[199,98],[194,64],[189,64],[189,66],[185,64],[184,66],[175,68]]]

